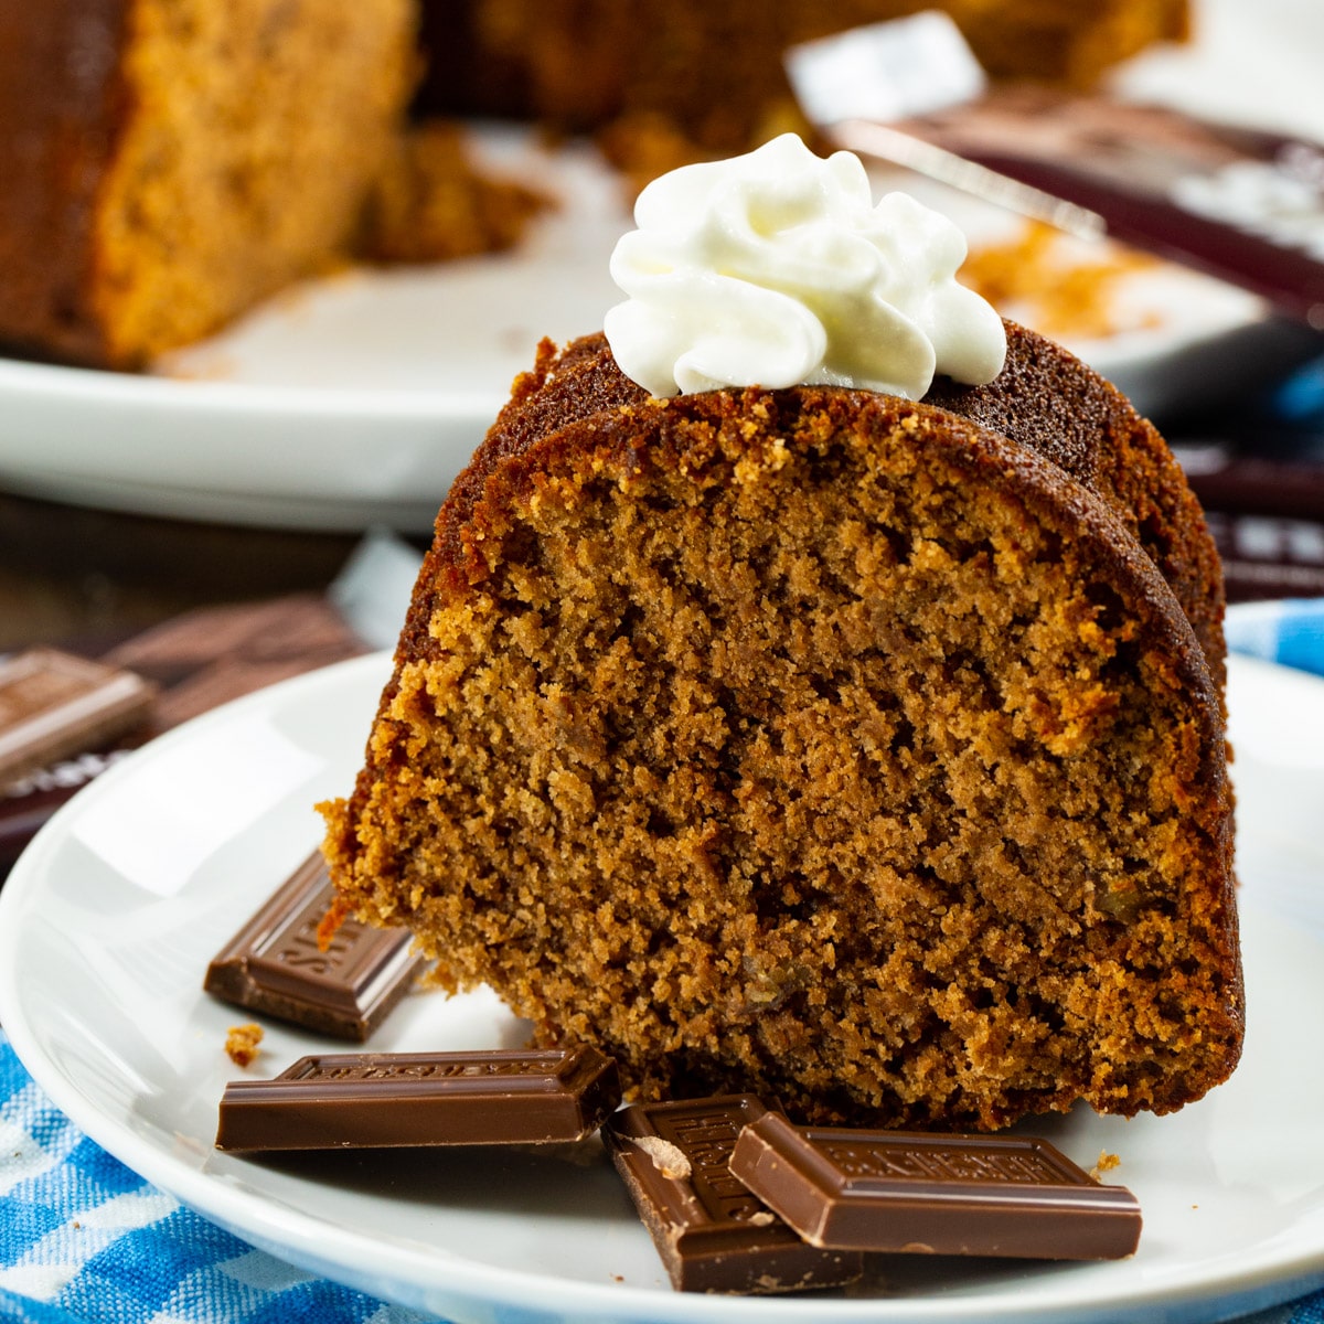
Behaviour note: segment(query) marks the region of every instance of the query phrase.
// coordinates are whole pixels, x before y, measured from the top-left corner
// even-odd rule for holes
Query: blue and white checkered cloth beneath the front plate
[[[1229,646],[1324,674],[1324,601],[1229,614]],[[93,1144],[0,1030],[0,1324],[421,1324],[254,1250]],[[1324,1324],[1324,1291],[1243,1324]]]

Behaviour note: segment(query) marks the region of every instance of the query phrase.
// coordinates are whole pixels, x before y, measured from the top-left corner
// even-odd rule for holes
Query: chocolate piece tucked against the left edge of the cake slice
[[[409,990],[422,959],[402,928],[347,919],[326,951],[318,924],[335,896],[311,854],[207,968],[208,993],[306,1030],[365,1039]]]

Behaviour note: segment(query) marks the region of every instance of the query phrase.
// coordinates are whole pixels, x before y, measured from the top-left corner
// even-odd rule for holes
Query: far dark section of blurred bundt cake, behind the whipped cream
[[[661,117],[730,154],[786,126],[788,46],[920,9],[948,12],[992,77],[1072,87],[1189,36],[1188,0],[424,0],[420,95],[571,131]]]

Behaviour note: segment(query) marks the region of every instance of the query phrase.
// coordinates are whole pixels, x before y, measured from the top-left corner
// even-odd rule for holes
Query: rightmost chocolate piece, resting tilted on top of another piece
[[[1129,1190],[1033,1137],[800,1128],[768,1112],[731,1170],[814,1246],[1120,1259],[1140,1239]]]

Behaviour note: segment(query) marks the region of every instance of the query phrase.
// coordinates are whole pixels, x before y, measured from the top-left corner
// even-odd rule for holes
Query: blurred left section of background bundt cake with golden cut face
[[[135,367],[342,261],[414,83],[413,0],[0,16],[0,342]]]

